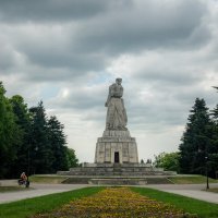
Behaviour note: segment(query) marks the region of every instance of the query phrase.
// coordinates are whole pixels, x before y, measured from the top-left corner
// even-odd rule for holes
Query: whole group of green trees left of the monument
[[[43,101],[28,108],[20,95],[5,97],[0,82],[0,178],[15,178],[22,171],[55,173],[77,166],[63,130],[57,117],[47,117]]]

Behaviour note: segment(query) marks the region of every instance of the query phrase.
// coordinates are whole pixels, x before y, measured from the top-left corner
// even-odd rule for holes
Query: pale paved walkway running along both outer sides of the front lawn
[[[16,185],[15,180],[0,181],[1,185]],[[24,198],[43,196],[52,193],[66,192],[85,186],[93,186],[88,184],[31,184],[33,190],[0,193],[0,204],[14,202]],[[196,199],[202,199],[209,203],[218,204],[218,193],[205,192],[205,184],[149,184],[145,187],[153,187],[156,190],[174,193]],[[218,183],[209,184],[210,187],[218,187]],[[25,189],[25,187],[24,187]]]

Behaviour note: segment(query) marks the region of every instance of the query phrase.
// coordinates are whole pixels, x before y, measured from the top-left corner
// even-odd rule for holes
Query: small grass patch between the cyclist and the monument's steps
[[[60,184],[63,182],[68,177],[61,175],[31,175],[29,181],[36,183],[49,183],[49,184]]]

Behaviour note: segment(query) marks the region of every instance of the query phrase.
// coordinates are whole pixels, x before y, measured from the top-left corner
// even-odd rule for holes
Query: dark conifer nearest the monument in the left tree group
[[[58,170],[68,170],[68,148],[66,136],[63,133],[63,124],[61,124],[56,116],[50,117],[48,120],[49,143],[51,144],[53,161],[52,172]]]

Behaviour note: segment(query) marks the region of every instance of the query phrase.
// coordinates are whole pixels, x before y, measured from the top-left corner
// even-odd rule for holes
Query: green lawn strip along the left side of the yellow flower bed
[[[72,199],[93,195],[102,189],[104,187],[85,187],[59,194],[1,204],[0,218],[25,218],[38,213],[51,211]]]

